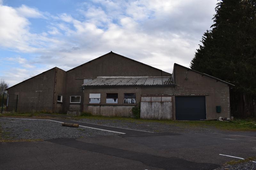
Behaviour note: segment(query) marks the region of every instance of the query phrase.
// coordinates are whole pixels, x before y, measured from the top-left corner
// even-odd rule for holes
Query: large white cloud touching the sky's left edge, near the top
[[[36,52],[54,41],[43,34],[31,33],[29,20],[20,16],[15,8],[0,5],[0,23],[2,48],[25,53]]]

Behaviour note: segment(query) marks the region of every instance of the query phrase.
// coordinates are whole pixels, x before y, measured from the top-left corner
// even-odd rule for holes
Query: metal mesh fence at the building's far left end
[[[18,95],[3,93],[0,96],[1,113],[17,112]]]

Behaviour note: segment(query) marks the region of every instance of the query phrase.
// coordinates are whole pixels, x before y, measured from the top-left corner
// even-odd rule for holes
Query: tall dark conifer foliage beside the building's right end
[[[219,0],[214,24],[202,38],[191,69],[236,85],[231,103],[246,94],[256,96],[256,1]],[[234,100],[234,101],[232,101]],[[243,99],[245,105],[245,99]],[[241,103],[240,103],[241,104]],[[247,104],[249,105],[249,104]],[[255,103],[250,105],[254,106]],[[246,107],[246,106],[244,106]],[[244,108],[244,112],[246,109]],[[248,110],[248,109],[247,109]],[[254,108],[255,111],[255,108]]]

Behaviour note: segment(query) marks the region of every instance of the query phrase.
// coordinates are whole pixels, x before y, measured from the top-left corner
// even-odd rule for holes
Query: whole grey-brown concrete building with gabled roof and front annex
[[[7,90],[18,112],[129,117],[140,105],[144,119],[205,120],[230,117],[230,86],[179,64],[171,74],[111,51],[68,71],[52,68]]]

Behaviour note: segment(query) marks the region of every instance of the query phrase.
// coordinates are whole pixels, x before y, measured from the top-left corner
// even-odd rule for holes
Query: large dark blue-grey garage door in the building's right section
[[[206,119],[204,96],[176,96],[176,120]]]

